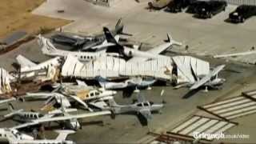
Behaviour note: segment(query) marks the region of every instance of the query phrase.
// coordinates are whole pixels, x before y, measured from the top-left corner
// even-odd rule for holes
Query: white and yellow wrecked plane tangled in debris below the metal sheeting
[[[62,106],[68,108],[71,106],[70,102],[78,102],[87,110],[93,111],[92,109],[90,109],[87,103],[94,105],[94,102],[100,101],[104,105],[105,102],[103,101],[112,99],[114,94],[117,94],[117,92],[114,90],[94,89],[72,91],[64,88],[51,93],[27,93],[26,96],[23,96],[22,98],[47,99],[45,102],[45,106],[42,107],[42,110],[47,111],[54,110],[54,105],[56,103],[62,103]]]

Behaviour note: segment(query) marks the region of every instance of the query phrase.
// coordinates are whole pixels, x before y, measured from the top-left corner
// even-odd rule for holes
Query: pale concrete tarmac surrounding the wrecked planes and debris
[[[223,59],[214,59],[213,54],[223,54],[249,50],[254,45],[255,18],[250,18],[244,24],[234,25],[224,22],[227,14],[235,9],[235,6],[228,6],[226,12],[214,16],[212,19],[202,20],[194,18],[191,14],[169,14],[162,10],[146,10],[146,0],[140,3],[130,1],[119,1],[114,7],[106,8],[94,6],[82,0],[48,0],[40,6],[34,14],[43,14],[56,18],[67,18],[74,20],[63,30],[76,32],[79,34],[94,34],[102,30],[102,26],[114,27],[118,18],[122,17],[127,33],[134,34],[131,40],[145,42],[151,46],[162,43],[166,38],[166,33],[171,33],[175,40],[190,46],[189,52],[197,54],[196,57],[210,62],[210,66],[226,64],[219,77],[226,78],[226,83],[221,90],[210,90],[208,93],[200,90],[190,98],[182,97],[188,93],[187,88],[174,90],[173,86],[153,86],[153,90],[142,90],[140,94],[146,96],[153,102],[162,102],[166,105],[162,114],[154,114],[148,126],[142,126],[135,115],[118,115],[115,119],[110,116],[98,118],[88,118],[82,120],[84,126],[76,134],[69,138],[78,143],[130,143],[138,142],[146,136],[148,131],[162,132],[171,128],[182,119],[198,112],[196,106],[202,106],[218,99],[232,97],[240,94],[243,90],[254,90],[256,78],[254,76],[256,68],[253,65],[241,62],[254,63],[253,55],[244,58],[230,58],[229,62]],[[65,10],[65,13],[57,13],[58,9]],[[176,52],[184,53],[184,47],[174,47]],[[15,62],[14,58],[18,54],[23,54],[36,62],[43,62],[49,57],[42,54],[34,41],[28,42],[18,49],[3,54],[0,57],[0,66],[6,70],[14,70],[11,66]],[[184,53],[188,54],[188,53]],[[167,52],[166,55],[174,55]],[[233,61],[235,60],[235,61]],[[161,90],[165,90],[163,97],[160,97]],[[122,98],[118,93],[115,99],[118,103],[131,103],[136,94],[131,98]],[[15,102],[15,107],[26,110],[37,110],[42,102]],[[80,111],[81,112],[81,111]],[[6,114],[2,111],[1,114]],[[255,115],[255,114],[254,114]],[[241,123],[235,128],[227,131],[229,134],[250,134],[250,139],[242,139],[238,142],[255,142],[254,115],[234,119]],[[102,122],[103,121],[103,124]],[[8,120],[1,122],[0,127],[10,127],[16,122]],[[47,134],[48,136],[51,132]],[[55,135],[50,135],[53,138]],[[237,142],[236,139],[224,139],[221,142]]]

